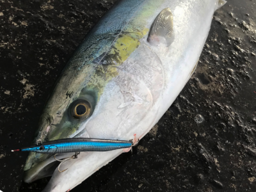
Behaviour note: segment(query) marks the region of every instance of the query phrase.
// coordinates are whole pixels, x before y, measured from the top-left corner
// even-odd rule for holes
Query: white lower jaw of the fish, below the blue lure
[[[120,154],[122,149],[110,152],[81,152],[77,159],[61,164],[61,170],[67,169],[65,172],[60,173],[58,169],[55,170],[43,192],[63,192],[73,189]]]

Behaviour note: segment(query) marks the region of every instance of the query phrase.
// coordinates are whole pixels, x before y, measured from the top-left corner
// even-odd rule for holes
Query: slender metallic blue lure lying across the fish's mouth
[[[31,147],[24,147],[15,151],[28,151],[41,154],[62,154],[68,152],[88,152],[88,151],[109,151],[119,148],[132,147],[132,141],[120,140],[99,140],[92,138],[66,138],[62,140],[54,140],[33,145]]]

